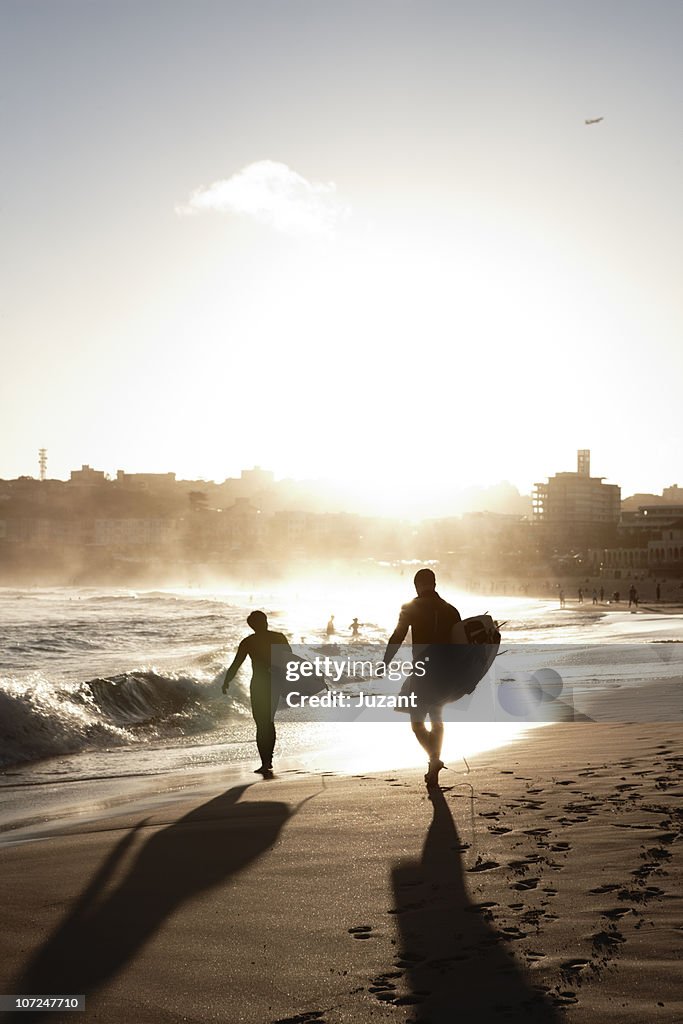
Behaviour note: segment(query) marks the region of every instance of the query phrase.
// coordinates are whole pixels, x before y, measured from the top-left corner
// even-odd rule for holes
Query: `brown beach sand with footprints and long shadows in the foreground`
[[[3,835],[0,991],[112,1024],[680,1022],[682,737],[554,725],[431,800],[417,770],[138,780]]]

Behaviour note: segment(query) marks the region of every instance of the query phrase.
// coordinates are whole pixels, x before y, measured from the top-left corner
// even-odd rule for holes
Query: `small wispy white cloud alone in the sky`
[[[333,182],[308,181],[287,164],[259,160],[229,178],[198,188],[179,214],[217,211],[253,217],[290,234],[332,234],[348,215]]]

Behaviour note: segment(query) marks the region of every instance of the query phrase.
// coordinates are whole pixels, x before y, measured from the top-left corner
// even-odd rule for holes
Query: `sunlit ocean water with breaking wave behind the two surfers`
[[[271,628],[307,644],[324,640],[331,614],[337,641],[350,642],[349,624],[357,616],[361,639],[379,644],[411,591],[410,579],[366,586],[357,578],[253,593],[0,589],[0,786],[256,761],[248,664],[228,695],[221,693],[225,667],[250,632],[249,611],[262,608]],[[506,620],[503,635],[511,641],[571,642],[599,634],[624,642],[672,628],[657,625],[656,616],[610,617],[604,607],[560,612],[551,601],[481,598],[447,587],[442,593],[464,616],[487,610]],[[291,765],[338,762],[345,770],[372,770],[386,763],[387,751],[394,751],[395,762],[396,729],[407,734],[402,719],[373,729],[371,736],[357,724],[286,723],[279,750]],[[469,726],[459,750],[494,746],[519,731],[492,724],[474,737]],[[402,744],[405,757],[420,763],[413,743]]]

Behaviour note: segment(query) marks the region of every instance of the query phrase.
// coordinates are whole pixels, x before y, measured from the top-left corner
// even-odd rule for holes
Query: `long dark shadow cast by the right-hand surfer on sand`
[[[486,920],[485,905],[470,901],[462,845],[445,797],[437,790],[431,799],[433,818],[421,860],[401,860],[392,871],[399,929],[395,966],[411,994],[391,998],[394,971],[376,979],[380,988],[389,989],[378,998],[413,1005],[410,1019],[416,1024],[555,1024],[557,1011],[510,955],[513,942]]]

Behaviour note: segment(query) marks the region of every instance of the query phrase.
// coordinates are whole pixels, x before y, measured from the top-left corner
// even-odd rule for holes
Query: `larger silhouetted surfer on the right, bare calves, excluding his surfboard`
[[[414,583],[418,596],[402,605],[398,624],[387,644],[384,664],[388,665],[393,659],[409,629],[414,645],[435,645],[429,651],[430,668],[427,674],[423,677],[410,677],[403,686],[403,690],[408,686],[417,695],[417,707],[411,713],[411,724],[418,742],[429,755],[425,782],[432,787],[438,784],[438,773],[445,767],[441,761],[443,718],[442,705],[437,700],[438,676],[450,671],[452,659],[449,658],[446,645],[451,643],[453,627],[461,620],[458,609],[436,593],[436,577],[431,569],[416,572]],[[427,718],[431,729],[425,724]]]

